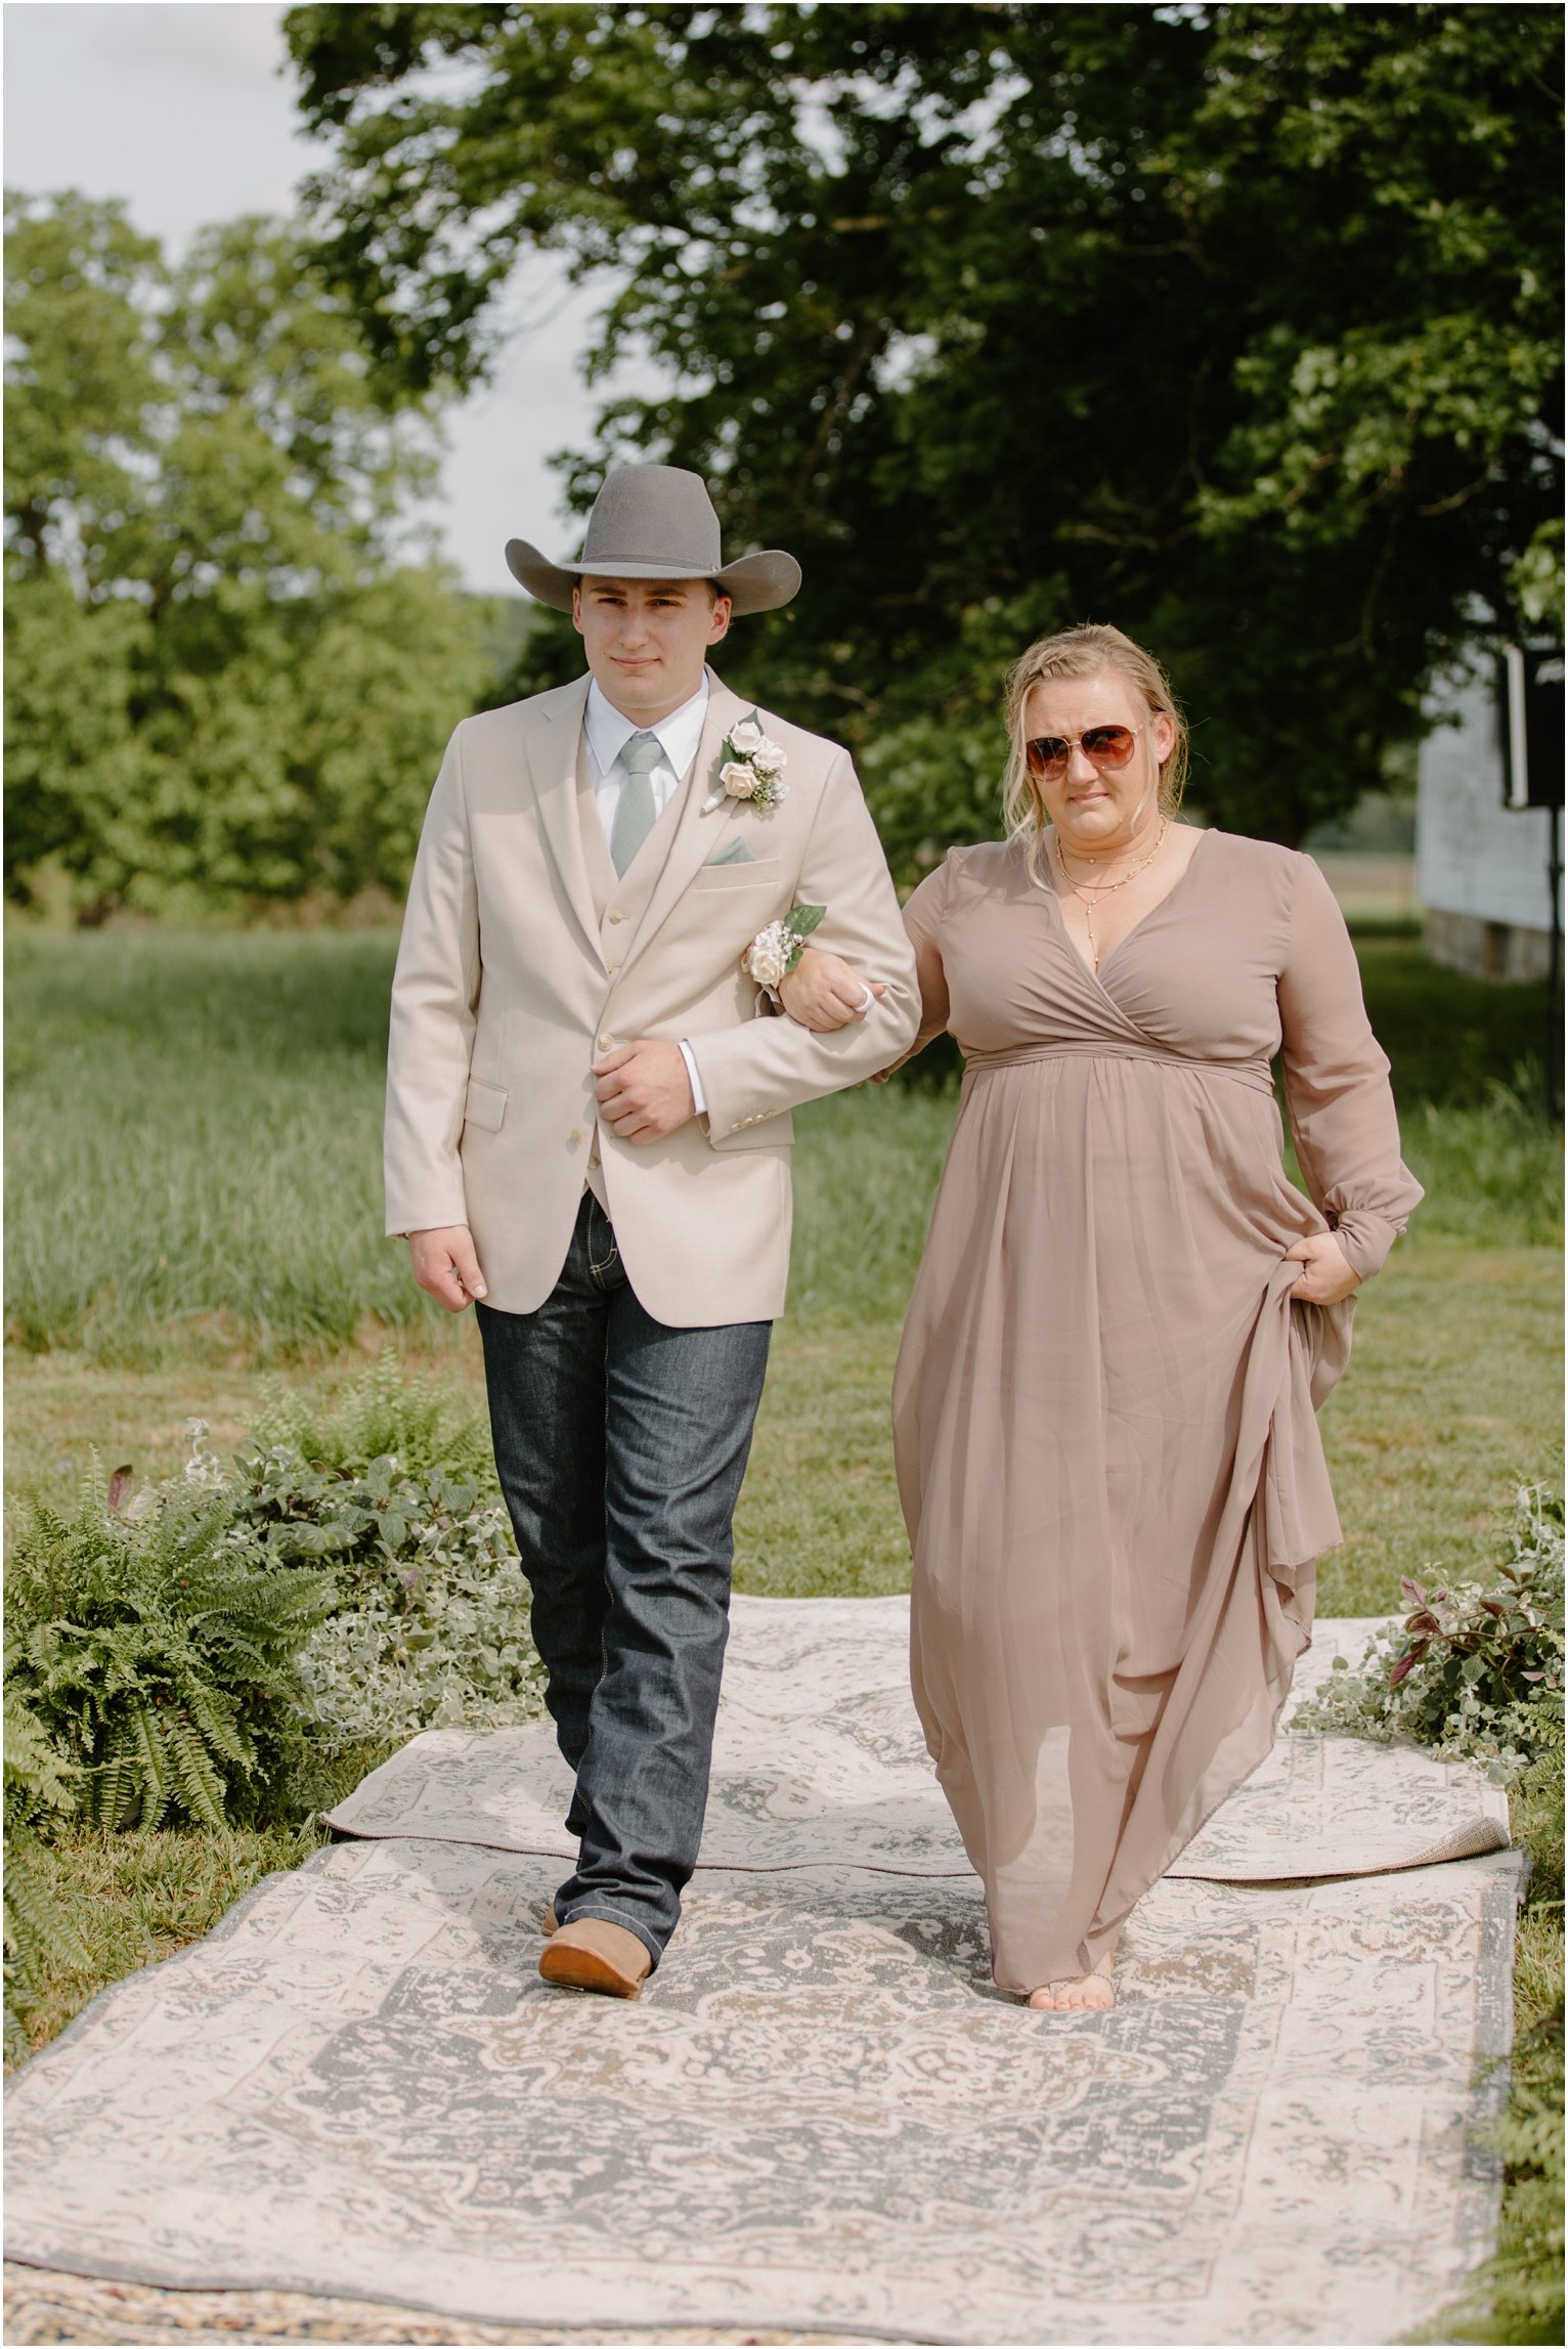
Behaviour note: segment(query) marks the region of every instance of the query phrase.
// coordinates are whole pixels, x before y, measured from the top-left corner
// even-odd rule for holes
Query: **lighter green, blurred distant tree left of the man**
[[[7,202],[7,888],[80,918],[401,890],[481,618],[399,561],[430,482],[345,305],[265,221],[181,268]]]

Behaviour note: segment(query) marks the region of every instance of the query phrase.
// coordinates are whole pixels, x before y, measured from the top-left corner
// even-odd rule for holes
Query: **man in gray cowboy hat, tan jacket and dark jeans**
[[[899,1059],[918,989],[847,754],[707,667],[735,613],[789,604],[793,557],[723,564],[699,477],[629,465],[575,564],[521,540],[507,564],[573,613],[589,674],[446,752],[392,982],[387,1229],[420,1287],[477,1301],[575,1771],[540,1973],[636,1997],[702,1832],[789,1113]],[[742,970],[803,904],[885,980],[838,982],[864,1017],[833,1034],[772,1017]]]

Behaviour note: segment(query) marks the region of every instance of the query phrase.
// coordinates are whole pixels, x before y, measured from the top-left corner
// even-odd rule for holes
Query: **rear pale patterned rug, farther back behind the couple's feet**
[[[1324,1621],[1296,1696],[1378,1626]],[[329,1811],[340,1835],[420,1837],[570,1860],[570,1776],[547,1722],[430,1729]],[[1232,1884],[1385,1875],[1507,1846],[1507,1795],[1418,1748],[1284,1736],[1183,1851]],[[906,1600],[735,1600],[704,1867],[967,1877],[908,1698]]]

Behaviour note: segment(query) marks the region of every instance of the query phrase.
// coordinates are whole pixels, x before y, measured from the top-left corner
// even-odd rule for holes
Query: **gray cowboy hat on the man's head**
[[[800,564],[779,547],[723,564],[707,482],[678,465],[622,465],[606,474],[575,564],[549,564],[526,538],[509,538],[507,571],[554,611],[573,608],[573,587],[589,571],[615,580],[714,580],[735,613],[777,611],[800,587]]]

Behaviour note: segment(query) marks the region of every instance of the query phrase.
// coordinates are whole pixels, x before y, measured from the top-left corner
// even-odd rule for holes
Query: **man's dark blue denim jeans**
[[[610,1917],[657,1966],[702,1837],[772,1322],[655,1322],[592,1191],[538,1313],[477,1311],[545,1703],[577,1771],[556,1917]]]

